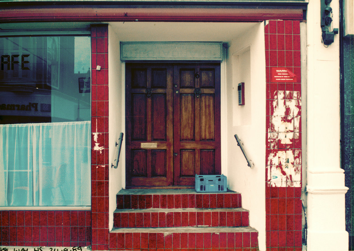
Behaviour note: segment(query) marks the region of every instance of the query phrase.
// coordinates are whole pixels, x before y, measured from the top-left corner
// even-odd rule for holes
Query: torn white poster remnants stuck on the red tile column
[[[301,149],[293,149],[293,144],[299,139],[301,130],[301,94],[299,91],[275,90],[273,97],[269,113],[267,181],[270,186],[299,187]]]

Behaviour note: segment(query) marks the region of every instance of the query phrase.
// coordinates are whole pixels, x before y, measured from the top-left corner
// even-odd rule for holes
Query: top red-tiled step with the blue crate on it
[[[196,193],[193,189],[129,189],[121,190],[116,196],[118,209],[144,208],[238,208],[241,194]]]

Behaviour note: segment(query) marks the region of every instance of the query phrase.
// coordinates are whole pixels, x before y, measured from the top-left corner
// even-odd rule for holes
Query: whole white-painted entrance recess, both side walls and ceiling
[[[125,22],[109,24],[109,147],[115,149],[124,132],[124,63],[119,41],[222,41],[228,43],[221,64],[222,173],[229,189],[242,193],[250,210],[250,225],[259,231],[259,249],[265,250],[265,53],[263,23]],[[252,74],[251,74],[252,73]],[[237,84],[245,82],[246,105],[237,105]],[[120,119],[120,120],[119,120]],[[255,168],[250,169],[236,144],[245,143]],[[125,141],[118,169],[110,169],[109,227],[113,226],[115,194],[125,188]],[[113,151],[109,159],[113,161]]]

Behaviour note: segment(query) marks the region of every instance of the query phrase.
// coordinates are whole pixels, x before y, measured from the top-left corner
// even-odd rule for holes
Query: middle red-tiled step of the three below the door
[[[120,209],[113,214],[116,228],[247,227],[249,211],[243,208]]]

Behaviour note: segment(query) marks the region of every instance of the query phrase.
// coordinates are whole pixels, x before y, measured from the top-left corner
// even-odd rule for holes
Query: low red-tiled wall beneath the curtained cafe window
[[[0,211],[0,246],[87,246],[90,211]]]

